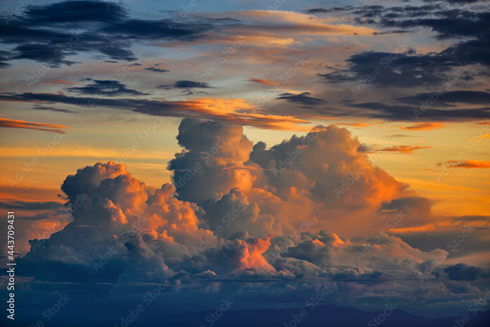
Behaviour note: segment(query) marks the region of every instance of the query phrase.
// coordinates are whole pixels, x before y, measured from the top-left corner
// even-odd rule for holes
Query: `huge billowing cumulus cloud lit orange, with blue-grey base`
[[[68,176],[61,189],[73,221],[31,240],[19,258],[33,278],[23,287],[67,282],[80,305],[125,307],[141,285],[167,280],[154,310],[196,297],[233,297],[245,309],[265,293],[270,307],[294,306],[322,281],[333,285],[326,302],[362,308],[461,307],[482,294],[485,283],[454,278],[472,267],[443,265],[448,251],[390,233],[401,219],[423,225],[431,204],[373,166],[346,129],[317,126],[268,148],[240,126],[184,119],[177,140],[172,184],[156,190],[112,162]]]

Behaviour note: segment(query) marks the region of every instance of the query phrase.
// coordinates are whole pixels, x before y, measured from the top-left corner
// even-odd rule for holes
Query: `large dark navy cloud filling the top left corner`
[[[30,59],[52,67],[72,65],[75,62],[66,57],[93,51],[114,60],[134,61],[137,56],[131,46],[138,40],[192,41],[222,24],[216,20],[215,25],[213,19],[186,20],[169,28],[171,20],[134,19],[122,3],[95,0],[29,5],[21,15],[4,13],[1,18],[6,23],[0,26],[0,42],[13,46],[8,56],[1,55],[2,68],[6,58]]]

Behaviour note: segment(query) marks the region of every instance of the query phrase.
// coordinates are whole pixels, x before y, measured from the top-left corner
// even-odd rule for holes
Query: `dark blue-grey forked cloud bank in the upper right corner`
[[[310,10],[319,12],[319,8]],[[439,40],[450,38],[465,38],[466,40],[455,43],[439,53],[417,54],[414,49],[407,46],[401,47],[400,51],[398,47],[397,53],[381,51],[356,53],[345,60],[346,69],[333,68],[333,71],[318,74],[320,79],[326,83],[366,79],[366,74],[380,69],[382,72],[371,81],[373,85],[413,88],[441,83],[446,75],[458,65],[490,66],[489,12],[474,12],[459,8],[448,10],[443,9],[440,4],[390,8],[346,6],[322,12],[329,11],[343,12],[347,16],[353,15],[354,22],[358,24],[377,24],[377,26],[391,30],[376,32],[377,35],[401,31],[415,32],[425,27],[435,32],[435,37]],[[461,79],[468,81],[473,77],[466,73],[461,76]]]

